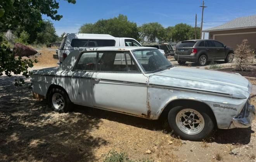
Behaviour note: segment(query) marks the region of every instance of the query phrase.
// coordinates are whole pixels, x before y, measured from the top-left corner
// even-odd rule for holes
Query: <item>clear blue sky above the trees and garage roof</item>
[[[59,2],[58,14],[63,15],[54,23],[56,33],[76,33],[81,25],[94,23],[99,19],[126,15],[128,20],[142,25],[148,22],[159,22],[164,27],[186,23],[201,25],[202,0],[76,0],[76,4]],[[204,0],[203,29],[215,27],[232,19],[256,15],[256,0]],[[206,33],[205,38],[208,38]]]

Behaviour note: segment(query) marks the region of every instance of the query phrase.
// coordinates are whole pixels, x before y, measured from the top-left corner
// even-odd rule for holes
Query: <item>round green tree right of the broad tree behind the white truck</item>
[[[142,24],[139,27],[140,39],[147,39],[150,42],[155,42],[156,39],[159,41],[164,40],[165,29],[158,22],[150,22],[147,24]]]

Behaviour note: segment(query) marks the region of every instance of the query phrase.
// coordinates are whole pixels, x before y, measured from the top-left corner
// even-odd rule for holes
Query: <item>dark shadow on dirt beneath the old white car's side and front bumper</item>
[[[113,122],[123,123],[126,125],[131,125],[133,127],[144,128],[148,130],[163,131],[166,134],[171,134],[174,138],[176,137],[171,128],[169,127],[166,120],[148,120],[136,116],[130,116],[126,114],[116,113],[112,111],[100,110],[96,108],[90,108],[86,106],[76,105],[74,112],[85,113],[95,118],[107,119]],[[216,129],[214,130],[211,137],[206,139],[206,142],[216,142],[216,143],[239,143],[242,145],[248,144],[251,140],[251,133],[254,133],[249,128],[235,128],[235,129]]]

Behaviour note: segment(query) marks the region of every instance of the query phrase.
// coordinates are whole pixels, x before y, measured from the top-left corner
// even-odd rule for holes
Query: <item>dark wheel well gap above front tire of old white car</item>
[[[197,107],[202,107],[206,109],[206,112],[208,115],[211,117],[213,120],[214,125],[216,126],[216,118],[213,113],[213,110],[206,104],[201,101],[195,101],[195,100],[186,100],[186,99],[179,99],[179,100],[174,100],[168,103],[166,107],[164,108],[163,112],[161,113],[159,120],[166,120],[168,117],[169,111],[174,108],[175,106],[197,106]]]

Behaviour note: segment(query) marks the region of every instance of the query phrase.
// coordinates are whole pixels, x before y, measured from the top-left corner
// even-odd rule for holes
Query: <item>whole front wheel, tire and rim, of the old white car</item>
[[[168,113],[168,123],[176,135],[185,140],[199,141],[208,137],[214,123],[205,109],[176,106]]]

